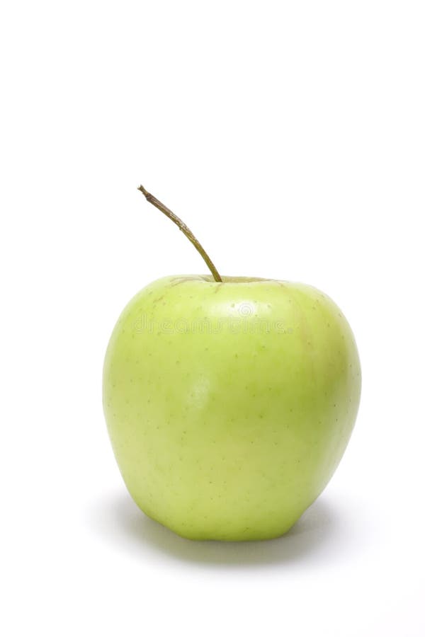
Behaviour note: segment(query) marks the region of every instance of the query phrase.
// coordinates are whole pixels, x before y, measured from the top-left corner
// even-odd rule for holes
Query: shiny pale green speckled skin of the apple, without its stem
[[[339,308],[276,280],[165,277],[116,324],[103,408],[125,484],[191,539],[269,539],[327,485],[353,430],[361,369]]]

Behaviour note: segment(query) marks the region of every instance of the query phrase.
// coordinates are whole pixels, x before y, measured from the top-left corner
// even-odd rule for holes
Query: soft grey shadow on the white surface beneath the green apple
[[[284,536],[266,541],[219,542],[183,539],[144,515],[130,496],[96,503],[89,511],[89,525],[103,539],[132,551],[161,553],[178,561],[220,567],[260,567],[300,563],[319,558],[328,561],[341,541],[341,524],[324,498],[319,498]],[[343,525],[344,526],[344,525]]]

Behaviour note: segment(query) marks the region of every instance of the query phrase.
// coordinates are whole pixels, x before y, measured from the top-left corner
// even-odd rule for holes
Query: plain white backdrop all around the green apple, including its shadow
[[[5,636],[424,635],[424,30],[409,0],[4,3]],[[356,334],[355,432],[282,539],[185,541],[125,491],[113,324],[205,272],[140,182],[223,273],[315,285]]]

